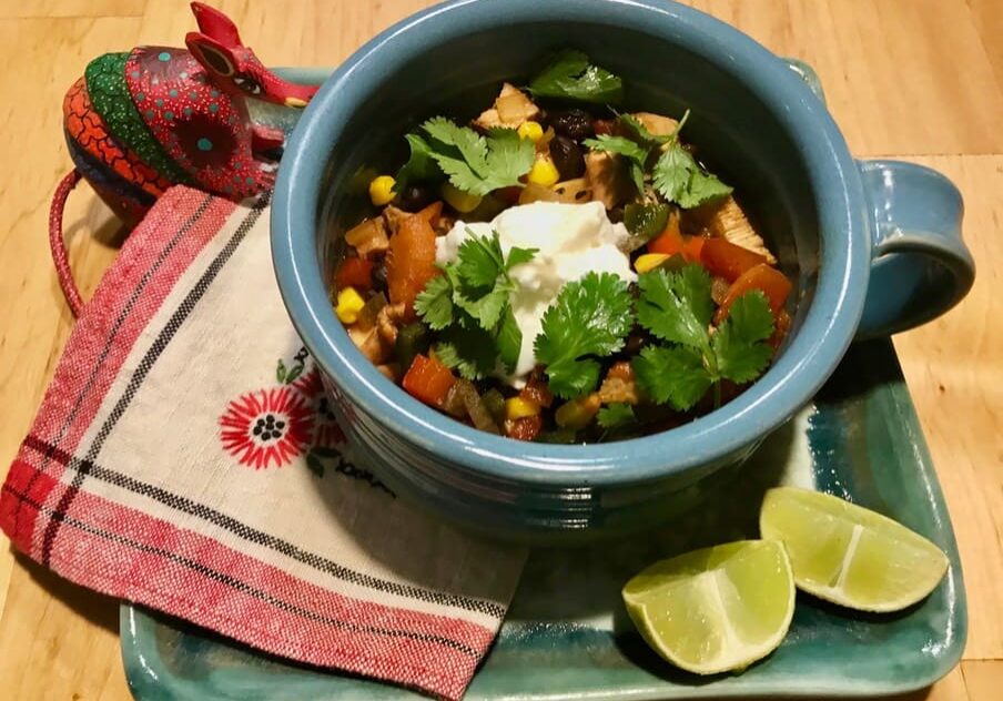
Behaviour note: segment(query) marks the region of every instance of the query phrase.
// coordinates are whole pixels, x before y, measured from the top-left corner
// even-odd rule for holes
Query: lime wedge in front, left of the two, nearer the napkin
[[[661,560],[624,587],[645,640],[698,674],[743,669],[777,649],[794,612],[783,546],[741,540]]]

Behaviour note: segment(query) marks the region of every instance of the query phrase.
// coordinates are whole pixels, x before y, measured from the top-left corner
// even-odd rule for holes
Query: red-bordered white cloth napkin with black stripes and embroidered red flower
[[[77,583],[458,699],[525,551],[409,510],[353,463],[269,246],[264,199],[160,200],[79,318],[0,526]]]

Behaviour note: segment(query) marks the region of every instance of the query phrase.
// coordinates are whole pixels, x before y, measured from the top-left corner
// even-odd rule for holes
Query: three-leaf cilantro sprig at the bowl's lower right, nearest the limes
[[[632,362],[638,385],[657,404],[685,412],[713,387],[718,405],[721,380],[751,382],[770,363],[773,314],[761,292],[739,297],[711,334],[711,282],[702,267],[654,271],[638,285],[638,323],[670,344],[647,346]]]

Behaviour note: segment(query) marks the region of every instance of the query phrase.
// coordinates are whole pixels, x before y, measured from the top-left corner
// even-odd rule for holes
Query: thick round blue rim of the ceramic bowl
[[[763,377],[723,407],[669,431],[610,444],[521,443],[468,427],[384,377],[337,322],[317,262],[320,183],[355,104],[430,45],[497,26],[595,21],[659,35],[742,81],[788,130],[814,192],[822,261],[798,334]],[[691,8],[656,0],[453,0],[377,34],[324,82],[286,146],[272,205],[272,255],[290,318],[340,394],[385,429],[453,468],[502,482],[621,485],[662,479],[726,458],[784,423],[818,392],[849,347],[863,312],[870,261],[857,162],[824,104],[781,59],[747,34]],[[824,303],[820,303],[824,301]]]

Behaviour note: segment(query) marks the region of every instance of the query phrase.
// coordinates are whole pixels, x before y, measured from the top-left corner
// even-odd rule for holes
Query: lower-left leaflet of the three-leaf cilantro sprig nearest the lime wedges
[[[687,346],[648,346],[631,363],[638,386],[658,404],[685,412],[707,394],[715,378],[703,356]]]

